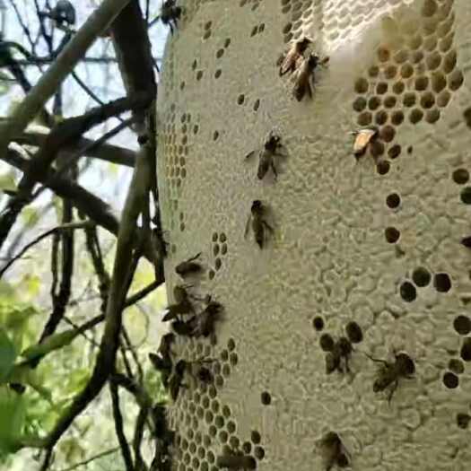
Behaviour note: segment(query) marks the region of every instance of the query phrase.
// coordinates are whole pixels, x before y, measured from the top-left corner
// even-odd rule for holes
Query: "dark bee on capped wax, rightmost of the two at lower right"
[[[378,360],[370,356],[368,353],[365,354],[373,362],[382,363],[382,366],[378,371],[377,379],[375,379],[373,383],[373,392],[378,393],[379,391],[384,391],[392,385],[388,394],[388,403],[390,403],[399,384],[399,379],[411,379],[413,377],[415,372],[414,361],[407,353],[395,353],[394,362]]]

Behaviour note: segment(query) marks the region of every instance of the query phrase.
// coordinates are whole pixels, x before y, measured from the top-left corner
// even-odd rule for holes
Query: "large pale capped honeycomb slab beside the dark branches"
[[[214,470],[237,450],[262,470],[322,469],[318,443],[336,432],[353,470],[464,471],[471,4],[181,4],[158,97],[167,283],[202,252],[188,283],[224,318],[216,345],[177,341],[176,359],[217,362],[170,406],[175,468]],[[331,60],[298,102],[275,64],[302,35]],[[363,126],[379,132],[355,159]],[[287,156],[258,180],[244,157],[274,128]],[[273,213],[263,249],[244,237],[256,199]],[[414,374],[383,388],[398,353]]]

